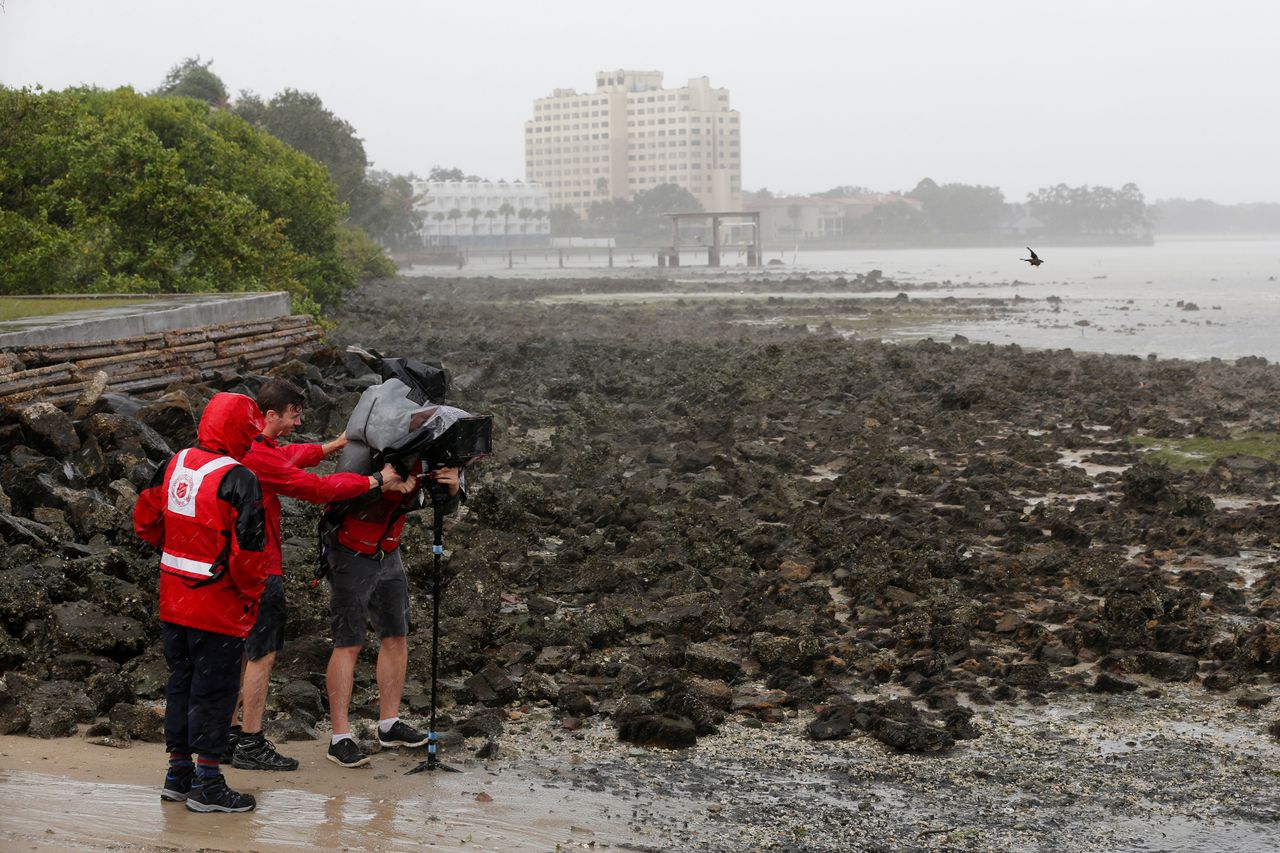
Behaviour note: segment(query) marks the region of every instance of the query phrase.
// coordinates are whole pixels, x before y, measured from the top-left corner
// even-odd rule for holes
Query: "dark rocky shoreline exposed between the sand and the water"
[[[756,286],[765,284],[698,284]],[[1280,432],[1280,368],[858,341],[814,321],[826,310],[819,297],[609,298],[672,287],[374,284],[338,318],[334,347],[273,371],[306,383],[305,429],[316,437],[342,429],[372,379],[346,343],[442,359],[454,373],[451,402],[494,415],[497,452],[445,534],[442,660],[454,749],[466,738],[479,758],[517,761],[522,738],[512,733],[532,715],[590,742],[644,744],[613,747],[621,757],[609,765],[637,792],[648,784],[636,781],[637,765],[663,761],[710,784],[721,779],[717,749],[769,740],[787,745],[760,748],[762,766],[792,781],[813,771],[831,783],[863,763],[941,779],[961,772],[966,756],[978,765],[1006,756],[1006,775],[1047,761],[1070,776],[1070,756],[1055,765],[1036,751],[1015,754],[1018,713],[1121,708],[1129,739],[1146,743],[1134,734],[1144,721],[1158,731],[1170,708],[1201,708],[1244,715],[1233,725],[1270,754],[1256,765],[1242,756],[1235,770],[1212,765],[1222,803],[1198,808],[1190,798],[1208,789],[1179,781],[1164,795],[1183,802],[1157,804],[1188,820],[1276,820],[1274,795],[1230,806],[1225,795],[1252,790],[1236,772],[1247,765],[1270,766],[1274,788],[1280,754],[1280,469],[1244,455],[1171,469],[1133,439]],[[820,283],[832,287],[884,283]],[[556,301],[582,292],[600,298]],[[940,310],[905,296],[844,301],[841,311],[851,306],[886,327]],[[0,733],[65,735],[93,722],[101,743],[156,736],[156,567],[133,542],[128,512],[155,464],[193,437],[204,401],[251,391],[246,379],[174,386],[152,401],[102,393],[70,411],[0,412]],[[269,733],[292,740],[324,730],[328,620],[310,580],[315,511],[288,505],[284,523],[292,621]],[[417,585],[406,695],[417,713],[430,660],[425,528],[406,537]],[[371,683],[371,660],[361,658],[357,704]],[[654,745],[694,748],[672,760]],[[1158,784],[1157,770],[1180,779],[1175,763],[1162,767],[1178,749],[1126,749],[1147,757],[1134,776],[1142,784]],[[1126,831],[1106,824],[1123,809],[1043,793],[1015,808],[1030,829],[1012,833],[995,811],[1007,806],[992,793],[1000,772],[952,779],[986,804],[956,797],[960,811],[942,808],[940,826],[906,836],[892,809],[847,807],[874,793],[882,772],[817,800],[788,783],[774,806],[796,825],[810,816],[806,802],[829,800],[813,816],[840,820],[820,836],[783,833],[750,798],[730,797],[707,820],[759,833],[699,844],[1023,849],[1039,838],[1053,849],[1062,833],[1097,849],[1146,849],[1106,847]],[[1071,802],[1102,790],[1105,777],[1073,781]],[[884,803],[925,807],[910,784],[901,790]],[[952,824],[972,833],[955,835]],[[1092,835],[1082,829],[1094,824]],[[863,836],[832,838],[859,826],[883,836],[863,848],[849,840]],[[669,827],[658,849],[678,831]]]

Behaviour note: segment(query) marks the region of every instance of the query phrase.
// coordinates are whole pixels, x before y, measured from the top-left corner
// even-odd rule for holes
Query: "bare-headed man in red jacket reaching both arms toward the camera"
[[[253,439],[244,466],[257,475],[266,512],[266,589],[257,611],[257,622],[244,643],[244,675],[241,681],[243,726],[232,726],[232,766],[241,770],[297,770],[298,761],[282,756],[262,735],[262,712],[276,652],[284,647],[283,560],[280,556],[280,496],[308,503],[333,503],[360,497],[372,489],[394,489],[403,480],[390,465],[379,474],[352,473],[320,476],[302,469],[317,465],[347,443],[343,433],[324,444],[279,444],[302,424],[306,394],[287,379],[271,379],[257,391],[262,412],[262,434]]]

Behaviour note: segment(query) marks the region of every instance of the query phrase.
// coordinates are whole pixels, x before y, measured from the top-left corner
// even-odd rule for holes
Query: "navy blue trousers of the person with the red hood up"
[[[244,640],[198,628],[164,625],[164,740],[169,752],[221,756],[227,752]]]

